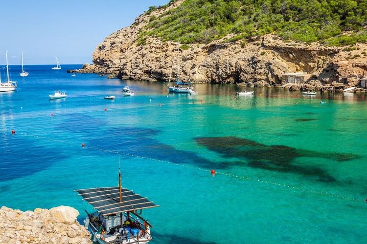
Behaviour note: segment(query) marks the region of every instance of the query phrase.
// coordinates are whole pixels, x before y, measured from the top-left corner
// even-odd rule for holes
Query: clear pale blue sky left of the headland
[[[92,62],[95,46],[130,25],[151,5],[169,0],[1,1],[0,64]]]

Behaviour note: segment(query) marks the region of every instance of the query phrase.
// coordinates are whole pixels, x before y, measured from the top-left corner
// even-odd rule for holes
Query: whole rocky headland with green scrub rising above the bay
[[[111,34],[92,65],[72,72],[168,81],[180,37],[186,81],[270,85],[284,73],[307,72],[316,88],[338,77],[356,85],[367,74],[366,3],[172,0]]]

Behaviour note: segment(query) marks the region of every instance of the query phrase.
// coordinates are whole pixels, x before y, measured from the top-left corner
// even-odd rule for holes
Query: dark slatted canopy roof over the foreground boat
[[[113,215],[121,212],[139,210],[143,208],[158,207],[146,197],[134,193],[127,188],[122,188],[122,199],[120,203],[120,190],[116,187],[102,187],[74,190],[78,192],[83,200],[91,204],[94,209],[102,215]]]

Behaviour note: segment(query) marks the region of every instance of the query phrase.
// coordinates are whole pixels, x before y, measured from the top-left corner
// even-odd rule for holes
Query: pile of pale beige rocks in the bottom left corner
[[[25,211],[0,209],[1,244],[89,244],[91,233],[76,221],[79,212],[69,206]]]

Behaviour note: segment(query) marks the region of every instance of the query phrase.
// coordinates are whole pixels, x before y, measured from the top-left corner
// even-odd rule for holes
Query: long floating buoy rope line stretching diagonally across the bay
[[[20,133],[20,134],[23,135],[23,136],[35,137],[35,138],[39,138],[39,139],[45,139],[47,141],[61,142],[61,143],[69,144],[69,145],[78,145],[78,146],[80,146],[80,143],[76,143],[76,142],[56,140],[56,139],[51,139],[51,138],[44,137],[44,136],[32,135],[32,134],[27,134],[27,133]],[[93,150],[98,150],[98,151],[102,151],[102,152],[125,155],[125,156],[134,157],[134,158],[140,158],[140,159],[147,159],[147,160],[152,160],[152,161],[157,161],[157,162],[162,162],[162,163],[169,163],[169,164],[172,164],[172,165],[177,165],[177,166],[181,166],[181,167],[185,167],[185,168],[191,168],[191,169],[196,169],[196,170],[200,170],[200,171],[204,171],[204,172],[210,172],[210,170],[208,170],[208,169],[204,169],[204,168],[200,168],[200,167],[196,167],[196,166],[192,166],[192,165],[187,165],[187,164],[182,164],[182,163],[172,163],[172,162],[166,161],[166,160],[154,159],[154,158],[139,156],[139,155],[135,155],[135,154],[131,154],[131,153],[123,153],[123,152],[119,152],[119,151],[108,150],[108,149],[103,149],[103,148],[98,148],[98,147],[94,147],[94,146],[85,145],[85,148],[87,148],[87,147],[91,148]],[[354,201],[354,202],[363,202],[364,201],[364,200],[360,200],[360,199],[353,198],[353,197],[346,197],[346,196],[343,196],[343,195],[340,195],[340,194],[328,193],[328,192],[317,191],[317,190],[311,190],[311,189],[307,189],[307,188],[304,188],[304,187],[297,187],[297,186],[292,186],[292,185],[288,185],[288,184],[280,184],[280,183],[275,183],[275,182],[272,182],[272,181],[264,181],[264,180],[260,180],[260,179],[254,179],[254,178],[251,178],[251,177],[234,175],[234,174],[230,174],[230,173],[223,173],[223,172],[217,172],[216,171],[215,174],[228,176],[228,177],[231,177],[231,178],[243,179],[243,180],[247,180],[247,181],[250,181],[250,182],[258,182],[258,183],[265,183],[265,184],[270,184],[270,185],[281,186],[281,187],[285,187],[285,188],[292,188],[292,189],[299,190],[299,191],[311,192],[311,193],[314,193],[314,194],[319,194],[319,195],[329,196],[329,197],[335,197],[335,198],[338,198],[338,199],[350,200],[350,201]]]

